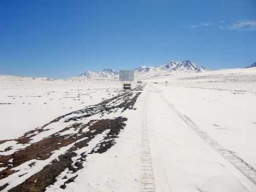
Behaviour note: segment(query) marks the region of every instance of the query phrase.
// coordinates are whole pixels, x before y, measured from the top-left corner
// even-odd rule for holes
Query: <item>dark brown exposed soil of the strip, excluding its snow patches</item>
[[[136,88],[135,91],[141,91],[142,89],[142,87],[139,87]],[[77,177],[76,172],[83,168],[82,163],[86,161],[88,155],[104,153],[116,143],[115,138],[117,138],[120,131],[124,129],[125,121],[127,121],[127,118],[123,117],[122,113],[126,110],[135,110],[134,104],[140,93],[141,92],[122,92],[99,104],[57,117],[49,123],[25,133],[24,136],[18,139],[0,141],[0,144],[6,141],[16,141],[17,143],[28,145],[11,155],[0,156],[0,167],[6,167],[6,169],[0,172],[0,180],[15,173],[14,170],[11,170],[13,167],[17,167],[34,159],[35,161],[29,164],[30,167],[33,167],[36,164],[36,160],[46,160],[52,156],[54,151],[59,150],[61,147],[71,145],[69,150],[58,156],[58,160],[54,159],[39,172],[27,178],[25,182],[13,187],[9,191],[45,191],[46,187],[54,184],[56,177],[68,168],[69,173],[74,174],[74,176],[69,179],[65,177],[62,178],[63,184],[60,187],[65,189],[68,183],[74,182]],[[104,118],[104,116],[110,113],[119,113],[119,115],[113,119]],[[93,119],[93,116],[96,114],[100,115],[101,119]],[[89,117],[92,119],[90,119],[88,123],[82,123],[81,120]],[[30,144],[34,136],[49,131],[50,128],[48,128],[48,126],[58,121],[67,123],[68,125],[49,137],[42,138],[40,141]],[[74,131],[74,134],[61,134],[68,130]],[[77,156],[75,151],[88,146],[93,138],[102,135],[103,132],[103,139],[96,144],[90,152],[82,153],[79,159],[73,162],[72,157]],[[10,151],[11,149],[12,147],[9,146],[5,151]],[[18,172],[18,170],[16,170],[16,172]],[[19,177],[25,175],[26,174],[20,174]],[[8,183],[0,186],[0,190],[5,189],[7,186]]]

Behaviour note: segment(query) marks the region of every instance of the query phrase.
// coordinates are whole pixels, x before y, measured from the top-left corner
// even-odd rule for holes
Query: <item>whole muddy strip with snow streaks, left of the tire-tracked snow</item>
[[[67,174],[59,186],[65,189],[68,183],[74,182],[88,155],[104,153],[116,143],[115,139],[127,121],[123,112],[135,110],[134,104],[140,93],[121,93],[99,104],[57,117],[18,139],[0,141],[0,145],[15,142],[20,146],[13,151],[14,145],[6,144],[5,150],[0,151],[0,190],[45,191],[61,173]],[[91,141],[99,137],[102,139],[91,146]],[[35,138],[38,141],[34,142]],[[63,150],[65,147],[67,149]],[[54,158],[55,154],[59,154],[57,158]],[[44,161],[49,163],[44,165]],[[31,174],[27,167],[31,170],[40,167],[40,170]],[[17,177],[20,179],[13,181]]]

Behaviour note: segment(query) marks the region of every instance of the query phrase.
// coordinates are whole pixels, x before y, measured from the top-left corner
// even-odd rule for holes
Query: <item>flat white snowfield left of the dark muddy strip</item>
[[[120,89],[118,81],[0,81],[0,103],[11,103],[0,104],[0,140],[20,137],[60,115],[99,103],[102,97],[111,98]]]

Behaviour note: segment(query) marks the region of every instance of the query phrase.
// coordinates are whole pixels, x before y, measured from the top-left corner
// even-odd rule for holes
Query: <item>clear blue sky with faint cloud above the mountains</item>
[[[256,1],[0,1],[0,74],[66,78],[168,60],[256,62]]]

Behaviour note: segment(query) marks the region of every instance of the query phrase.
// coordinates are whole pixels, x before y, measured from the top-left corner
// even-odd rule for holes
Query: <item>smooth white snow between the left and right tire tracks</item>
[[[147,121],[156,191],[247,191],[244,178],[239,180],[229,163],[179,119],[160,91],[150,93]]]

